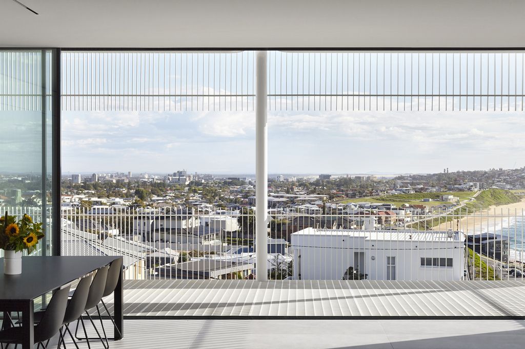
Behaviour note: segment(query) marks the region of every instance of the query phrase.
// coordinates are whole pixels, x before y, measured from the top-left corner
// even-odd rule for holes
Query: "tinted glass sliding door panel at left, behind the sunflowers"
[[[53,59],[53,50],[0,50],[0,212],[44,223],[35,255],[53,250]]]

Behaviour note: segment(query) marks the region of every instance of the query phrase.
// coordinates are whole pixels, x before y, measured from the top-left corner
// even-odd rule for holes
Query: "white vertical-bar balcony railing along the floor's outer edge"
[[[38,209],[7,211],[39,220]],[[270,211],[269,278],[522,279],[522,210],[316,211]],[[255,214],[248,208],[70,208],[60,224],[62,255],[122,255],[127,279],[254,277]]]

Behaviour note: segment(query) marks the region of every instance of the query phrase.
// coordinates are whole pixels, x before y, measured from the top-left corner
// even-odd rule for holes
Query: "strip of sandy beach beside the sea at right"
[[[513,204],[490,206],[486,210],[461,217],[459,222],[454,219],[453,221],[439,224],[434,227],[434,230],[452,228],[469,234],[494,232],[498,228],[510,225],[512,223],[511,220],[518,216],[525,216],[525,198]]]

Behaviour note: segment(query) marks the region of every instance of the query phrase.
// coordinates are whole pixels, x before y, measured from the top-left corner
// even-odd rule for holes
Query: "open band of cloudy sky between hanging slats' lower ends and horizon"
[[[519,112],[271,112],[269,173],[525,165]],[[254,112],[65,112],[64,172],[255,172]]]

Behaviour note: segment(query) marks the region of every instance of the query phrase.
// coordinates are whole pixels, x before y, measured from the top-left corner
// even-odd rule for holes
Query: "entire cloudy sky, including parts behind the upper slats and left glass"
[[[520,111],[524,57],[271,51],[268,171],[397,174],[524,166],[525,118]],[[253,52],[66,52],[62,62],[64,173],[255,172],[255,113],[240,110],[237,97],[225,97],[253,95]],[[434,97],[432,111],[428,98],[424,111],[425,100],[418,98],[402,97],[400,103],[395,97],[374,101],[374,97],[317,96],[363,93],[497,97],[469,97],[470,109],[481,104],[484,111],[465,112],[466,97],[438,101]],[[127,97],[78,97],[121,94],[152,95],[135,101],[135,109],[150,111],[123,111],[133,110]],[[189,102],[185,97],[156,97],[186,94],[201,97]],[[275,96],[282,94],[295,97]],[[303,94],[316,96],[299,99]],[[506,94],[518,96],[503,97]],[[239,100],[243,103],[244,97]],[[185,111],[188,103],[191,107]],[[379,111],[374,111],[375,104]],[[494,111],[494,104],[503,111]],[[463,111],[458,111],[459,105]],[[88,111],[100,109],[106,111]],[[111,109],[122,111],[107,111]],[[301,109],[306,111],[297,111]],[[0,144],[7,154],[0,161],[0,172],[39,172],[40,112],[2,111],[0,119],[6,130]]]

